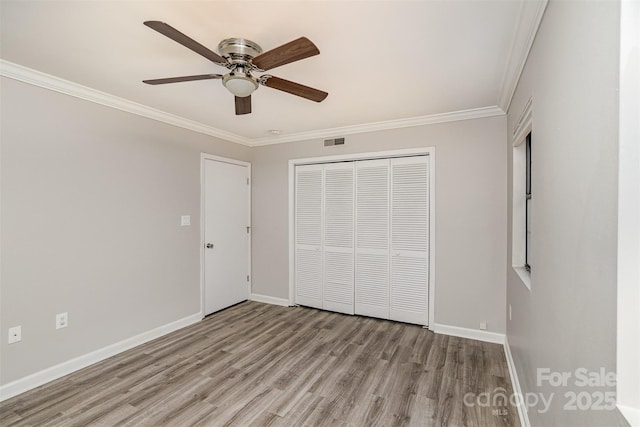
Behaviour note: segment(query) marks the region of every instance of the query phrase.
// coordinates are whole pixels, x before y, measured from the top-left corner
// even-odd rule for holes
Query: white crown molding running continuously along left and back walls
[[[120,98],[87,86],[82,86],[69,80],[64,80],[22,65],[0,59],[0,76],[18,80],[44,89],[49,89],[65,95],[84,99],[89,102],[126,111],[131,114],[146,117],[172,126],[181,127],[205,135],[214,136],[229,142],[235,142],[248,147],[258,147],[285,142],[306,141],[310,139],[323,139],[336,136],[353,135],[357,133],[377,132],[381,130],[401,129],[415,126],[425,126],[436,123],[454,122],[459,120],[479,119],[484,117],[500,116],[505,110],[499,106],[473,108],[469,110],[453,111],[428,116],[411,117],[407,119],[387,120],[374,123],[365,123],[353,126],[343,126],[329,129],[319,129],[310,132],[298,132],[289,135],[280,135],[266,138],[247,138],[222,129],[214,128],[203,123],[189,120],[175,114],[167,113],[137,102]]]

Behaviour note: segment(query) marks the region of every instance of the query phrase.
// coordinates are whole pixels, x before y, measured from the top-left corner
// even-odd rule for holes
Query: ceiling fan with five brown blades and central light
[[[300,37],[267,52],[263,52],[262,48],[251,40],[241,38],[225,39],[218,44],[218,51],[222,54],[218,55],[169,24],[160,21],[146,21],[144,25],[204,56],[214,64],[229,69],[229,72],[225,75],[199,74],[143,80],[144,83],[159,85],[193,80],[222,79],[224,87],[235,95],[236,115],[251,113],[251,94],[258,89],[259,85],[278,89],[316,102],[323,101],[328,95],[327,92],[274,77],[270,74],[262,74],[260,76],[252,74],[254,72],[262,73],[290,62],[318,55],[320,51],[306,37]]]

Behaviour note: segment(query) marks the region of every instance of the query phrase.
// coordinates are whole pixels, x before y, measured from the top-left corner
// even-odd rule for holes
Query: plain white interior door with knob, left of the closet
[[[204,160],[204,312],[249,299],[249,166]]]

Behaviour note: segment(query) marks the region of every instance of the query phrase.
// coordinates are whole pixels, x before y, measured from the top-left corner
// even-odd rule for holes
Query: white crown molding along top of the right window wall
[[[509,110],[511,99],[516,91],[518,80],[529,57],[531,46],[538,33],[542,16],[547,8],[548,0],[523,1],[520,4],[520,14],[511,39],[509,59],[502,75],[502,84],[498,94],[498,107],[503,111]]]

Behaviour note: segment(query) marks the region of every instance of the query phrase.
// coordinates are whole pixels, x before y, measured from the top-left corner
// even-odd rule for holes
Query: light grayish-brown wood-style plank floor
[[[502,346],[246,302],[1,404],[2,426],[519,426]]]

